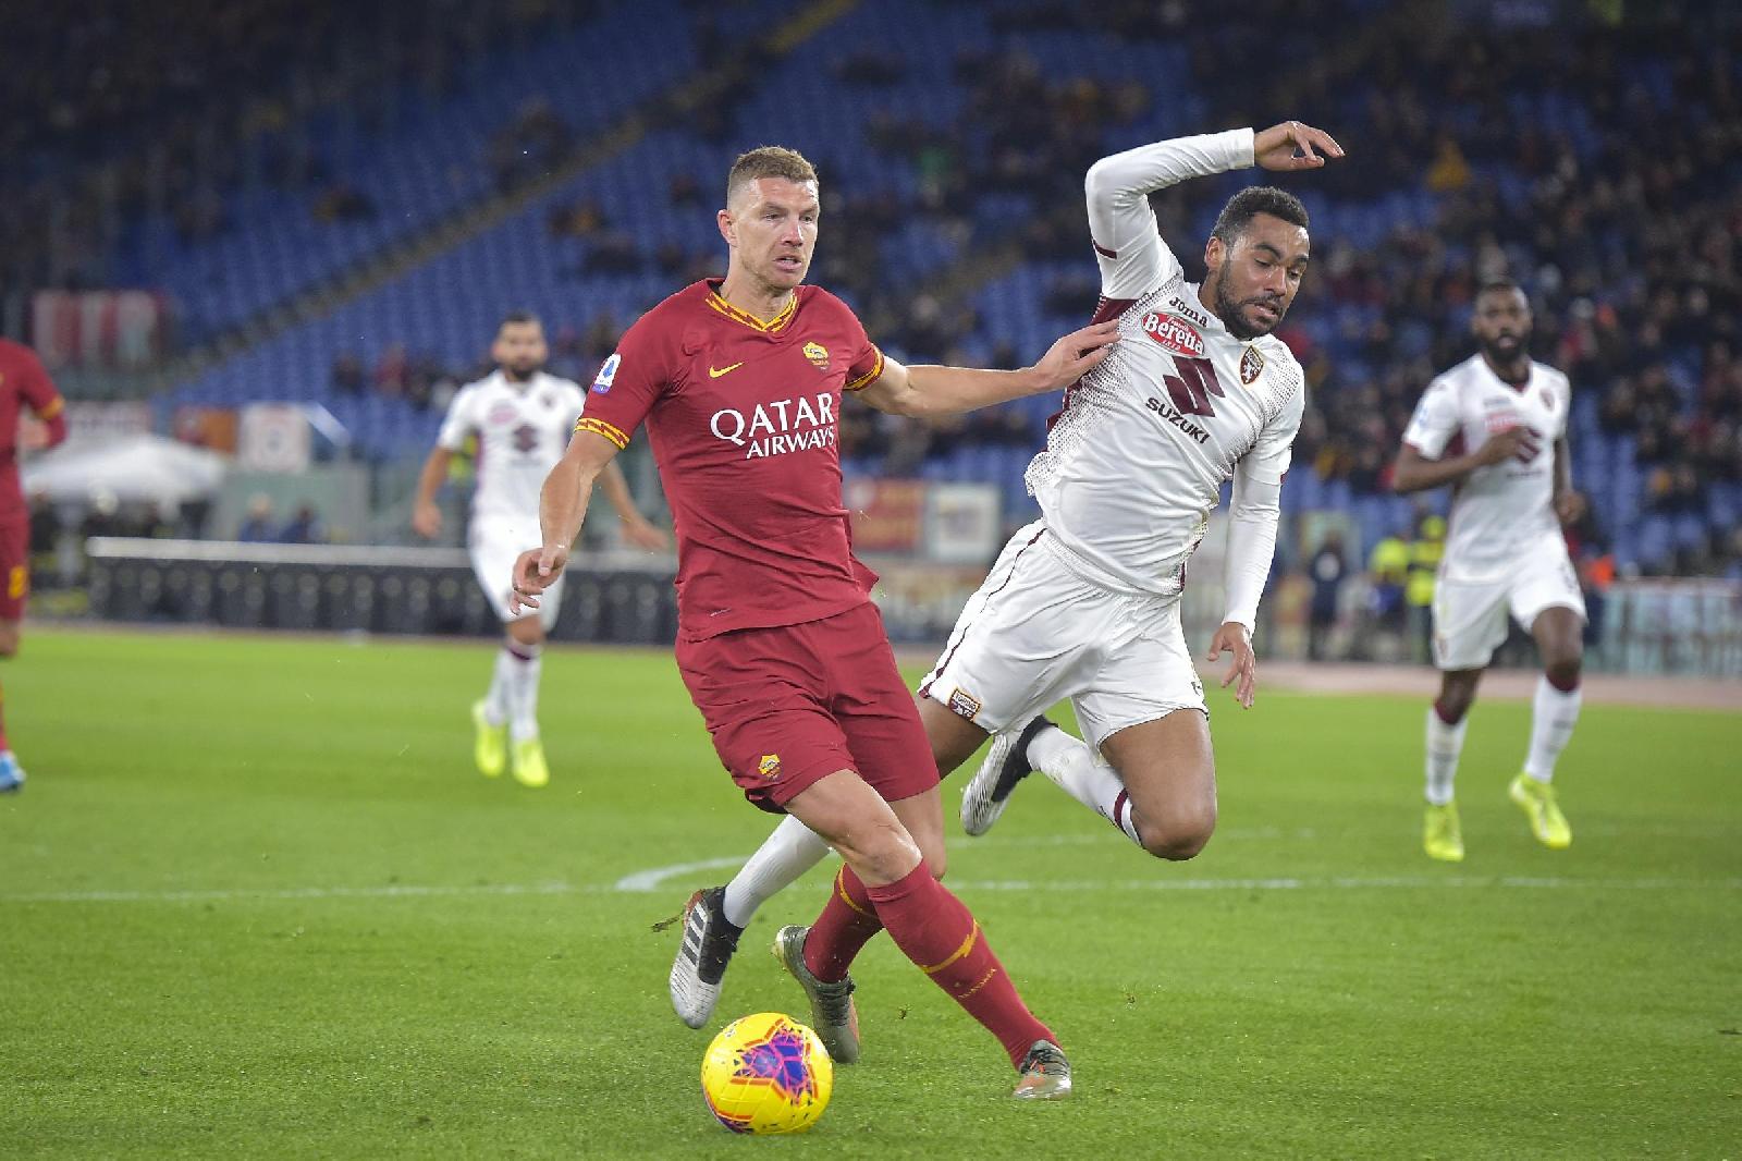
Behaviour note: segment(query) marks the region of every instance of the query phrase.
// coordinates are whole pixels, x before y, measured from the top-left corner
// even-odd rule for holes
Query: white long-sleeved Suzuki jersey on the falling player
[[[1282,340],[1242,342],[1204,309],[1146,197],[1251,164],[1251,131],[1183,138],[1090,173],[1096,319],[1117,314],[1120,342],[1066,394],[1028,488],[1059,542],[1124,587],[1176,593],[1223,481],[1239,465],[1280,483],[1300,431],[1300,363]]]

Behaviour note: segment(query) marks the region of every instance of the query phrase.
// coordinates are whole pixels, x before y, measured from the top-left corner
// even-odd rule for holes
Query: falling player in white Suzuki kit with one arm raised
[[[1284,122],[1162,141],[1089,171],[1101,267],[1094,321],[1117,319],[1120,342],[1066,392],[1028,469],[1042,518],[1005,546],[918,692],[939,771],[995,736],[963,791],[970,835],[1042,771],[1157,858],[1190,859],[1209,842],[1216,765],[1179,593],[1221,485],[1233,479],[1228,605],[1209,659],[1232,654],[1223,685],[1237,682],[1249,708],[1251,633],[1305,408],[1301,368],[1270,331],[1306,272],[1306,209],[1270,187],[1235,194],[1204,248],[1209,274],[1193,286],[1158,234],[1150,194],[1228,169],[1315,169],[1341,155],[1329,134]],[[1085,739],[1040,716],[1066,697]],[[824,851],[786,819],[726,887],[692,896],[671,971],[685,1023],[707,1022],[756,906]]]

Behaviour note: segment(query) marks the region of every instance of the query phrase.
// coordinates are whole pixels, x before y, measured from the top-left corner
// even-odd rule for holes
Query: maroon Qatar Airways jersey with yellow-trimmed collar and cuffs
[[[768,321],[718,288],[695,282],[641,316],[575,425],[624,448],[646,422],[690,642],[829,617],[876,582],[852,551],[836,431],[843,392],[876,382],[883,352],[817,286]]]

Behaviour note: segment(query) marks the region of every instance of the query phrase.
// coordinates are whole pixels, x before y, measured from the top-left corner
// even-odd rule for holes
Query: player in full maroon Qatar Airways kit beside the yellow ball
[[[937,764],[852,553],[836,422],[845,394],[895,415],[946,415],[1059,390],[1106,357],[1115,324],[1052,343],[1021,371],[908,368],[834,295],[803,286],[817,174],[791,150],[739,157],[719,232],[726,277],[648,310],[599,370],[545,479],[544,546],[512,601],[568,563],[594,479],[643,422],[678,533],[678,668],[714,748],[756,805],[840,851],[822,915],[775,955],[841,1063],[859,1056],[848,966],[881,929],[998,1037],[1016,1096],[1070,1093],[1070,1063],[1023,1004],[944,870]],[[510,608],[512,608],[510,601]]]

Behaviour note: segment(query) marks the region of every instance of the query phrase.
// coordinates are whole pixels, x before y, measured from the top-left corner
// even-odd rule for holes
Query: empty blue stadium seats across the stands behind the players
[[[775,5],[765,7],[775,10]],[[1038,237],[1026,261],[972,293],[974,324],[965,333],[953,333],[948,350],[930,349],[899,322],[878,335],[892,354],[908,359],[951,354],[974,361],[1010,354],[1031,359],[1052,336],[1078,326],[1092,309],[1092,267],[1082,246],[1082,209],[1075,200],[1080,195],[1071,192],[1080,188],[1075,171],[1068,174],[1071,180],[1042,187],[984,183],[984,190],[969,190],[965,206],[937,211],[922,204],[928,180],[923,162],[913,150],[888,143],[890,126],[909,134],[939,134],[953,143],[956,155],[949,164],[982,173],[995,160],[991,138],[996,127],[976,136],[974,119],[982,113],[982,105],[976,101],[984,96],[977,85],[988,70],[1002,66],[1000,61],[1024,58],[1035,70],[1036,84],[1047,91],[1063,92],[1078,78],[1092,80],[1101,91],[1131,82],[1144,85],[1146,105],[1129,120],[1097,124],[1101,136],[1090,141],[1090,155],[1212,129],[1225,120],[1216,78],[1192,68],[1190,47],[1179,38],[1115,40],[1111,33],[1085,26],[1040,28],[1030,19],[1040,7],[1045,5],[935,5],[923,0],[859,5],[814,42],[766,64],[756,84],[732,96],[711,129],[669,126],[648,134],[490,232],[343,303],[327,317],[298,326],[179,385],[164,406],[319,401],[352,431],[354,446],[364,455],[413,455],[427,446],[439,417],[422,401],[380,397],[369,387],[361,396],[336,390],[329,368],[341,354],[373,366],[388,349],[404,347],[462,375],[479,364],[495,321],[512,307],[538,310],[552,329],[584,331],[601,319],[606,326],[627,324],[695,268],[709,261],[718,265],[719,242],[707,213],[714,183],[739,148],[758,141],[803,148],[822,167],[831,194],[881,197],[895,206],[887,228],[847,235],[850,265],[874,270],[869,282],[876,293],[859,282],[824,279],[861,310],[894,303],[899,317],[904,295],[955,263],[1010,239],[1021,239],[1026,249],[1028,239]],[[1373,5],[1350,0],[1348,7],[1364,10]],[[916,28],[923,28],[925,35],[915,35]],[[646,21],[641,12],[617,12],[601,17],[598,26],[519,56],[514,68],[483,70],[490,73],[488,82],[439,106],[420,106],[388,138],[366,138],[343,122],[324,126],[319,134],[322,150],[333,169],[376,204],[375,220],[317,225],[298,199],[244,190],[232,206],[242,228],[153,265],[150,272],[167,281],[206,328],[226,326],[282,302],[286,295],[319,284],[361,256],[411,237],[488,194],[490,176],[483,159],[491,131],[510,120],[526,98],[545,96],[577,134],[587,136],[610,126],[643,96],[671,85],[695,64],[688,31],[688,16]],[[613,44],[643,44],[646,51],[587,59],[585,45],[592,33],[608,35]],[[901,68],[874,78],[855,77],[855,59],[866,45],[878,44],[902,45]],[[967,66],[963,45],[979,52]],[[575,68],[577,59],[587,59],[587,68]],[[1627,99],[1636,117],[1662,115],[1676,106],[1679,82],[1667,54],[1646,45],[1627,59],[1625,68]],[[1388,460],[1427,375],[1467,350],[1462,338],[1467,305],[1462,303],[1479,261],[1491,261],[1500,253],[1510,268],[1531,281],[1542,270],[1552,277],[1547,263],[1557,253],[1538,251],[1538,239],[1526,232],[1502,230],[1484,241],[1474,227],[1475,232],[1448,225],[1456,213],[1484,197],[1493,199],[1493,207],[1484,211],[1491,221],[1523,221],[1542,209],[1545,162],[1528,155],[1528,150],[1521,153],[1523,146],[1514,148],[1509,139],[1496,145],[1488,136],[1495,127],[1484,124],[1491,110],[1469,94],[1448,96],[1442,108],[1434,110],[1432,126],[1469,141],[1467,176],[1439,188],[1428,176],[1427,129],[1385,120],[1376,80],[1350,66],[1324,84],[1327,94],[1320,101],[1334,105],[1326,106],[1324,120],[1371,152],[1388,152],[1390,157],[1381,159],[1383,164],[1374,162],[1374,169],[1350,171],[1354,176],[1348,180],[1334,180],[1333,171],[1326,171],[1324,181],[1315,181],[1317,174],[1286,181],[1313,214],[1315,249],[1320,255],[1320,268],[1296,305],[1286,336],[1310,354],[1312,406],[1322,415],[1320,427],[1327,434],[1322,446],[1303,438],[1284,502],[1291,509],[1347,509],[1362,539],[1371,540],[1406,521],[1411,506],[1383,490],[1383,474],[1348,474],[1348,465],[1361,455],[1359,441],[1367,439],[1357,434],[1366,425],[1350,422],[1348,408],[1367,397],[1369,385],[1378,387],[1387,431],[1383,458]],[[1411,92],[1420,99],[1420,89]],[[1399,98],[1406,99],[1409,94]],[[1507,87],[1505,113],[1517,126],[1526,126],[1524,136],[1540,141],[1549,155],[1564,150],[1571,159],[1568,164],[1601,171],[1617,148],[1613,131],[1597,112],[1603,99],[1606,94],[1590,84],[1531,84],[1524,77]],[[1045,120],[1045,99],[1036,99],[1035,108],[1036,120]],[[1036,134],[1043,129],[1036,124]],[[1397,141],[1387,141],[1387,132],[1397,134]],[[1416,155],[1411,150],[1428,152]],[[1385,180],[1369,180],[1371,174]],[[685,176],[699,183],[702,199],[674,206],[667,192],[674,178]],[[1197,258],[1198,239],[1207,234],[1214,209],[1244,180],[1249,178],[1192,183],[1164,211],[1188,267]],[[552,213],[577,202],[599,207],[604,221],[587,237],[554,235]],[[1063,241],[1035,234],[1036,223],[1049,216],[1063,223]],[[841,218],[843,225],[850,218]],[[834,220],[829,225],[834,227]],[[1610,265],[1632,256],[1632,242],[1618,235],[1618,228],[1610,223],[1590,235],[1592,253]],[[841,237],[826,230],[824,253],[831,239]],[[627,253],[622,251],[624,242]],[[613,249],[613,244],[618,248]],[[1564,248],[1570,242],[1561,237],[1554,244]],[[167,242],[141,235],[131,246],[129,255],[143,261]],[[662,248],[671,255],[667,268],[653,258]],[[1345,261],[1357,267],[1367,263],[1364,284],[1336,279],[1333,272]],[[146,274],[145,267],[139,274]],[[1408,300],[1404,291],[1413,277],[1432,279],[1435,295],[1441,288],[1449,289],[1442,298]],[[1587,302],[1617,310],[1632,310],[1636,295],[1636,286],[1629,282],[1573,289],[1545,282],[1533,289],[1547,303],[1538,319],[1538,336],[1550,359],[1550,343],[1568,326],[1573,289]],[[869,302],[864,300],[868,293]],[[1376,342],[1374,335],[1383,338]],[[1683,413],[1691,415],[1702,354],[1686,342],[1674,342],[1665,345],[1660,359]],[[571,352],[561,370],[585,375],[591,368],[585,357]],[[1636,432],[1599,422],[1604,385],[1577,384],[1577,478],[1592,497],[1601,532],[1617,560],[1624,567],[1662,568],[1678,553],[1697,553],[1730,528],[1742,504],[1735,486],[1714,486],[1698,511],[1657,511],[1650,493],[1653,465],[1637,462]],[[1056,401],[1030,399],[1009,408],[1024,417],[1033,441],[1038,441]],[[1031,511],[1021,488],[1026,458],[1021,448],[949,446],[923,467],[923,474],[995,479],[1007,497],[1009,514],[1019,518]],[[1327,474],[1320,478],[1315,469]],[[878,464],[848,457],[848,471],[878,471]]]

